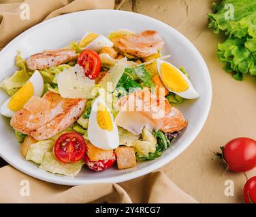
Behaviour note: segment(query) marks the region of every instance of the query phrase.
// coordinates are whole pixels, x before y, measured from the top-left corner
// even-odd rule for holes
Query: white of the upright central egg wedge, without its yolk
[[[111,132],[101,129],[97,123],[97,111],[100,103],[106,106],[108,112],[110,113],[113,125],[113,130]],[[106,102],[104,102],[104,100],[100,97],[96,98],[93,102],[91,115],[89,117],[88,138],[89,141],[99,149],[111,150],[116,149],[119,146],[118,128],[116,123],[114,123],[114,117]]]

